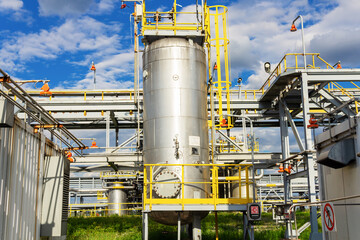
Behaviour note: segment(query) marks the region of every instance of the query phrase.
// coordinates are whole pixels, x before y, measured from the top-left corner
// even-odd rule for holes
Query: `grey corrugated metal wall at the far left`
[[[40,238],[45,137],[16,119],[0,128],[0,239]]]

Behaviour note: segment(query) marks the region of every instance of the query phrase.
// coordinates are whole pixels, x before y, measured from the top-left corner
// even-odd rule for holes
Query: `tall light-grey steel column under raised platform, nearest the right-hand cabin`
[[[306,126],[309,123],[309,90],[308,90],[308,75],[307,73],[302,73],[301,75],[301,98],[303,106],[303,121],[304,121],[304,138],[305,138],[305,149],[314,150],[313,141],[311,137],[311,129]],[[307,164],[307,175],[308,175],[308,191],[309,191],[309,200],[310,202],[316,202],[316,189],[315,189],[315,160],[312,153],[307,153],[304,155],[304,162]],[[311,223],[311,233],[310,240],[322,239],[321,234],[318,232],[318,223],[317,223],[317,211],[315,206],[310,207],[310,223]]]

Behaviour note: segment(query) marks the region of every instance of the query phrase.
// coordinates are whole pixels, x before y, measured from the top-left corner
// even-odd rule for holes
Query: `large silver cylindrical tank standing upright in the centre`
[[[204,48],[191,39],[163,38],[146,44],[143,55],[144,163],[208,163],[207,81]],[[153,181],[209,182],[208,167],[154,167]],[[184,198],[208,196],[210,184],[185,184]],[[154,184],[153,197],[181,198],[181,184]],[[149,193],[149,192],[148,192]],[[206,214],[205,214],[206,215]],[[175,212],[153,212],[176,224]],[[192,214],[181,215],[183,223]]]

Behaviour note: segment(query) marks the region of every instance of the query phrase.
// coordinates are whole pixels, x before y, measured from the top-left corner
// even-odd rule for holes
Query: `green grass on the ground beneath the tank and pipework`
[[[309,221],[309,212],[297,213],[297,225],[300,227]],[[219,213],[219,239],[241,239],[242,214]],[[319,220],[321,230],[321,221]],[[68,240],[140,240],[141,216],[111,216],[111,217],[71,217],[68,220]],[[295,228],[294,228],[295,229]],[[209,214],[202,221],[204,240],[215,239],[215,215]],[[255,223],[255,239],[282,239],[285,228],[272,220],[270,213],[263,213],[262,220]],[[310,228],[301,234],[300,239],[309,239]],[[158,224],[150,220],[149,239],[176,239],[177,227]],[[183,233],[182,239],[188,239]]]

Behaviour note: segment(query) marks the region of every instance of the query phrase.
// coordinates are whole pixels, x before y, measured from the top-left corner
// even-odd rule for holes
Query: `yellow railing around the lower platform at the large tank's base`
[[[252,197],[250,196],[250,185],[252,182],[249,179],[250,167],[250,164],[144,164],[144,209],[146,206],[149,206],[151,210],[152,205],[155,204],[180,205],[182,206],[182,209],[184,209],[187,204],[213,205],[214,209],[216,209],[216,205],[218,204],[247,204],[252,202]],[[154,170],[157,172],[156,170],[159,168],[177,169],[179,181],[156,181]],[[205,168],[204,171],[208,171],[206,168],[209,168],[212,180],[204,180],[201,182],[184,181],[184,178],[181,176],[185,176],[184,173],[189,171],[189,168]],[[226,177],[225,181],[219,181],[218,173],[221,168],[232,168],[233,170],[236,170],[238,174],[235,174],[233,177]],[[245,174],[242,174],[242,171],[245,171]],[[158,187],[162,184],[180,184],[181,190],[176,198],[161,198],[156,196],[155,192],[153,193],[155,184],[158,185]],[[220,197],[219,185],[221,184],[238,184],[238,197]],[[191,188],[194,185],[203,186],[205,192],[203,196],[201,198],[185,198],[185,188]]]

